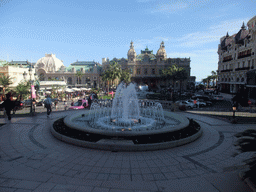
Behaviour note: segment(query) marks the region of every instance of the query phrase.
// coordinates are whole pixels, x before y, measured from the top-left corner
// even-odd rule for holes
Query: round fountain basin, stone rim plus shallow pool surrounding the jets
[[[164,111],[165,120],[162,120],[161,125],[156,125],[156,120],[142,117],[143,121],[147,121],[147,124],[134,125],[133,127],[120,127],[108,125],[105,122],[109,121],[109,117],[99,118],[96,123],[91,126],[91,119],[89,118],[89,111],[77,112],[71,116],[67,116],[64,119],[64,123],[76,130],[95,133],[107,136],[140,136],[140,135],[152,135],[165,132],[172,132],[183,129],[189,125],[189,120],[181,115]],[[143,119],[145,118],[145,119]]]

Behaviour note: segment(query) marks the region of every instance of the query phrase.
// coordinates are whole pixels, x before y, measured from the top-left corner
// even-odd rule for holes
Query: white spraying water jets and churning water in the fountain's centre
[[[128,86],[121,83],[116,91],[114,100],[102,100],[93,103],[86,117],[87,126],[107,131],[144,131],[175,126],[180,122],[164,117],[162,105],[155,101],[138,100],[135,84]],[[85,119],[84,119],[85,120]],[[82,122],[83,120],[75,119]]]

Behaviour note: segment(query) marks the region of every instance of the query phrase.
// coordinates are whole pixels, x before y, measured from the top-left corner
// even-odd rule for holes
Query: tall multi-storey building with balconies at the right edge
[[[256,68],[256,16],[231,36],[220,39],[218,46],[218,83],[221,92],[250,92],[248,72]],[[250,88],[249,88],[250,87]]]

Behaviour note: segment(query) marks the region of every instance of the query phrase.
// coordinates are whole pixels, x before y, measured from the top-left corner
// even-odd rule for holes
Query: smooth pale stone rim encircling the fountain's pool
[[[121,131],[121,132],[114,132],[114,131],[108,131],[108,130],[98,130],[98,129],[93,129],[93,128],[84,128],[81,125],[75,124],[72,122],[74,118],[77,118],[81,116],[82,114],[89,114],[89,111],[79,111],[76,112],[73,115],[66,116],[64,118],[64,123],[73,129],[79,130],[79,131],[84,131],[84,132],[90,132],[94,134],[100,134],[100,135],[107,135],[107,136],[141,136],[141,135],[152,135],[152,134],[161,134],[161,133],[167,133],[167,132],[174,132],[183,129],[184,127],[187,127],[189,125],[189,120],[179,114],[169,112],[169,111],[163,111],[164,115],[167,116],[172,116],[173,118],[177,119],[180,121],[180,124],[169,126],[168,128],[164,129],[158,129],[158,130],[146,130],[146,131]]]

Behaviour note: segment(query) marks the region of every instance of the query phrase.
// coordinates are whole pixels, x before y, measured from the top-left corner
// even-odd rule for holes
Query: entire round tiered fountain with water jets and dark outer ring
[[[196,131],[192,131],[194,129],[189,119],[164,111],[160,103],[138,100],[133,83],[128,86],[125,83],[119,84],[114,100],[95,102],[89,111],[81,110],[65,117],[63,126],[65,130],[71,130],[69,133],[66,131],[65,136],[60,128],[55,126],[55,129],[51,129],[53,135],[61,140],[64,138],[70,142],[68,137],[72,137],[71,142],[74,143],[73,138],[77,137],[80,139],[75,143],[81,145],[82,142],[82,146],[121,151],[178,146],[202,134],[199,125]],[[135,146],[139,143],[143,145]]]

